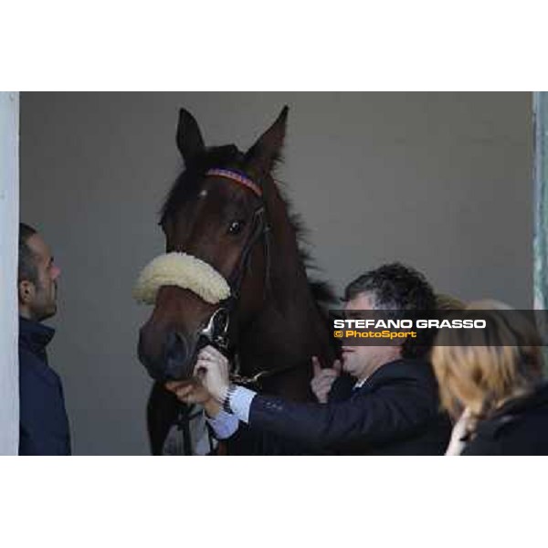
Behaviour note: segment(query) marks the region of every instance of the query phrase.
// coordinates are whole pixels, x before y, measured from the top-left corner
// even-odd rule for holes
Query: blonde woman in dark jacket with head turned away
[[[463,313],[485,318],[486,328],[444,329],[432,353],[442,406],[460,415],[446,454],[548,455],[538,333],[501,302],[471,302]]]

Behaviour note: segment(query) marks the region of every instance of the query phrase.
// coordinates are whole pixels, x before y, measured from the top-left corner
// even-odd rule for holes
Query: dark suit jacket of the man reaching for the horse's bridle
[[[354,393],[344,375],[327,405],[257,395],[249,426],[307,452],[342,455],[442,455],[451,432],[432,369],[419,360],[383,365]]]

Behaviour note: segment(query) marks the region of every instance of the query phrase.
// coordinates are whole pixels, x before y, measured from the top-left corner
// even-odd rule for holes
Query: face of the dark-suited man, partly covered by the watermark
[[[372,295],[360,293],[347,301],[344,311],[348,318],[353,311],[374,310]],[[393,362],[401,356],[401,346],[342,346],[342,369],[356,380],[366,379],[384,364]]]

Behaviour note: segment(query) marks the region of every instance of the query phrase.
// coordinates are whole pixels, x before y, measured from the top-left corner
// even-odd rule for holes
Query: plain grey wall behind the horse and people
[[[206,142],[248,147],[290,105],[279,178],[339,290],[399,259],[469,300],[532,300],[526,93],[22,94],[21,216],[63,269],[51,361],[79,454],[146,454],[149,380],[132,302],[180,159],[184,106]]]

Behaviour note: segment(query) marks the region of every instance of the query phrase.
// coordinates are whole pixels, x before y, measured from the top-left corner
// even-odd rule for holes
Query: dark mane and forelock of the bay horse
[[[191,163],[185,165],[184,171],[175,179],[171,190],[163,202],[162,209],[160,210],[160,222],[162,223],[166,217],[174,215],[188,196],[195,192],[199,181],[204,177],[205,172],[208,169],[214,167],[230,167],[231,165],[241,163],[244,158],[245,155],[238,151],[237,146],[234,144],[210,147],[205,149],[203,153],[198,154]],[[281,159],[277,158],[274,165],[276,166],[280,162]],[[337,300],[335,293],[328,282],[311,278],[309,274],[310,270],[319,269],[315,264],[314,259],[311,257],[310,251],[307,249],[307,230],[304,227],[301,216],[292,211],[292,206],[290,200],[286,196],[283,183],[279,181],[279,179],[275,179],[275,184],[279,190],[281,200],[288,211],[291,227],[293,227],[297,237],[299,256],[307,270],[312,297],[318,304],[320,310],[326,311],[326,309]]]

